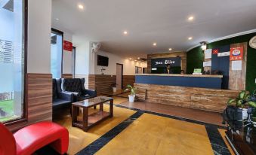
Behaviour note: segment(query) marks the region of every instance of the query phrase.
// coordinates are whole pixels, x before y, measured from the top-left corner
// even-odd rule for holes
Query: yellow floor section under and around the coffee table
[[[98,108],[98,107],[97,107]],[[109,105],[104,105],[104,111],[109,110]],[[89,113],[94,112],[93,108],[90,108]],[[86,147],[91,142],[95,141],[97,138],[100,138],[103,134],[108,132],[114,126],[117,126],[119,123],[122,123],[125,119],[130,117],[135,111],[124,109],[124,108],[114,108],[114,117],[107,119],[90,129],[88,132],[82,131],[82,129],[71,126],[71,117],[69,110],[65,111],[64,114],[59,114],[54,117],[54,122],[59,123],[61,126],[66,127],[69,130],[69,150],[68,154],[75,154]]]

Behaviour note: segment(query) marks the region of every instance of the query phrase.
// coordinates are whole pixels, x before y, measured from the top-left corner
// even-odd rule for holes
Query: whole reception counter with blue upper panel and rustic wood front
[[[146,102],[222,112],[239,91],[221,90],[222,75],[136,74],[137,97]]]

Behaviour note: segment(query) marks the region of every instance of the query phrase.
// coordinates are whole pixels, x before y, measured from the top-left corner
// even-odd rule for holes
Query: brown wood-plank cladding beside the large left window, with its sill
[[[52,120],[52,76],[51,74],[27,74],[27,120],[8,126],[16,131],[23,126],[43,120]]]

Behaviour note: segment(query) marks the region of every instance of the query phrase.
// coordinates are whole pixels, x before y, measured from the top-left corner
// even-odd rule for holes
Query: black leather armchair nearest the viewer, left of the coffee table
[[[70,108],[74,100],[72,93],[61,91],[60,81],[61,79],[52,79],[53,111],[60,108]]]

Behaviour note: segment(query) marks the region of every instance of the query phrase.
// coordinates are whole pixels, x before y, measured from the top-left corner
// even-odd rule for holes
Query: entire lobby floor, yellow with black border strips
[[[186,108],[145,105],[142,102],[131,104],[127,101],[128,99],[115,97],[114,117],[94,126],[88,132],[71,126],[68,109],[55,115],[54,122],[69,130],[68,153],[71,155],[233,154],[224,139],[223,129],[217,129],[217,126],[211,123],[193,121],[193,119],[201,121],[205,119],[205,122],[219,125],[217,121],[221,121],[221,118],[216,118],[216,114],[190,111]],[[104,105],[106,111],[108,106]],[[134,109],[129,109],[128,106]],[[90,109],[90,112],[94,111],[93,108]],[[170,116],[175,114],[176,117]],[[201,118],[207,114],[208,117]],[[217,120],[214,120],[214,117]],[[44,151],[42,152],[39,154],[45,154]]]

